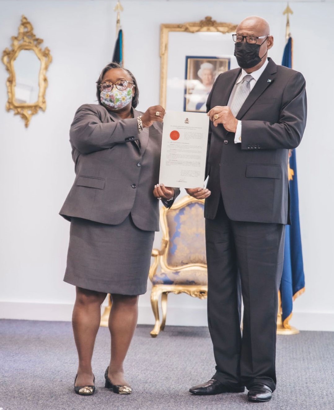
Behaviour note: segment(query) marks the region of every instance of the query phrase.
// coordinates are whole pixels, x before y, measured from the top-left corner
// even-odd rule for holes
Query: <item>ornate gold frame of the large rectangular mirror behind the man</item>
[[[167,98],[167,67],[168,67],[168,34],[169,32],[218,32],[222,34],[235,33],[237,24],[218,23],[210,16],[204,20],[184,24],[161,24],[160,28],[160,105],[166,108]]]

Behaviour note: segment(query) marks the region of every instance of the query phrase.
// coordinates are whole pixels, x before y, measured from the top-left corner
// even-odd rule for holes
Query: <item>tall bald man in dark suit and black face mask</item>
[[[193,394],[243,392],[268,401],[276,387],[275,346],[284,227],[290,223],[289,149],[306,123],[301,73],[267,58],[268,23],[248,17],[233,35],[240,69],[220,74],[207,100],[208,323],[216,373]],[[243,297],[240,331],[238,283]]]

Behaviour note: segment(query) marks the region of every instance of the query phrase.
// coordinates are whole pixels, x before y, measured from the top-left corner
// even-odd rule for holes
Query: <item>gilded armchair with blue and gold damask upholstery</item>
[[[153,249],[154,262],[150,267],[152,282],[151,305],[155,317],[152,337],[164,330],[168,293],[186,293],[207,297],[207,259],[205,255],[204,200],[186,196],[170,209],[160,210],[162,229],[161,249]],[[158,267],[160,269],[158,271]],[[162,320],[158,301],[161,295]]]

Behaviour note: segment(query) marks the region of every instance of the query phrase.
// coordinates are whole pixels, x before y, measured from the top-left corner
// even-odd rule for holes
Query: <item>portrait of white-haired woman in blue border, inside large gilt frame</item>
[[[230,58],[186,56],[183,111],[206,112],[206,102],[219,74],[229,70]]]

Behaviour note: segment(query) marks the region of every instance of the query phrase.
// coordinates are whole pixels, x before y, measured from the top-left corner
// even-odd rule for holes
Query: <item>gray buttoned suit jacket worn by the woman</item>
[[[120,120],[102,105],[77,110],[70,128],[76,178],[61,216],[118,225],[131,214],[138,228],[159,230],[153,189],[159,182],[162,124],[155,122],[139,134],[141,112],[133,112],[133,119]]]

